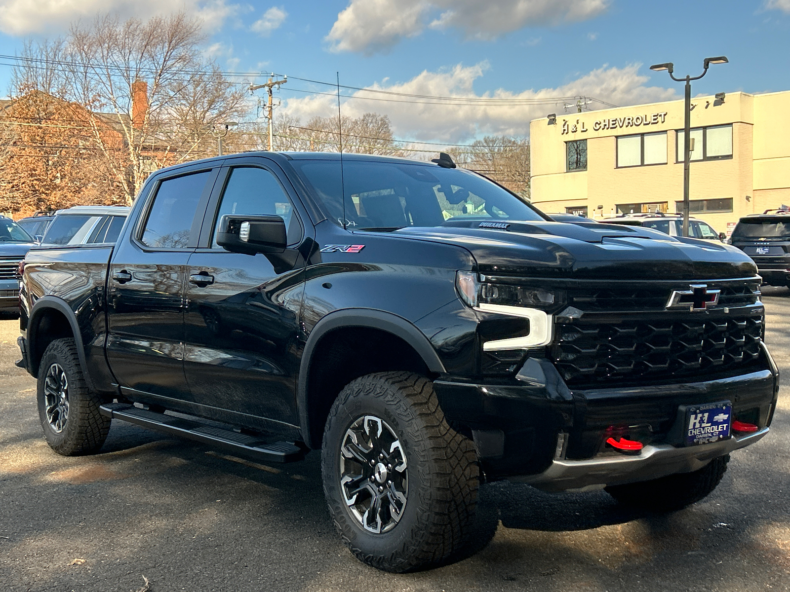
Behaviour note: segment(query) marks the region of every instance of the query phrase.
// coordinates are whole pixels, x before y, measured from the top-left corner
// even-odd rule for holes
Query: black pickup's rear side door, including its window
[[[218,172],[216,167],[156,179],[135,227],[116,245],[107,279],[107,358],[122,390],[188,399],[186,263],[198,245]]]

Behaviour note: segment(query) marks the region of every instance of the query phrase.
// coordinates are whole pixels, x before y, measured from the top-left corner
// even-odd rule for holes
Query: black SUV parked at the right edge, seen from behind
[[[741,218],[730,242],[754,260],[763,283],[790,286],[790,210]]]

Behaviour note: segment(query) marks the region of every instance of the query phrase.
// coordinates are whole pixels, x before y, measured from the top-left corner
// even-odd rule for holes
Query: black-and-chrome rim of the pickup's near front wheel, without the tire
[[[340,447],[340,488],[346,505],[365,530],[389,532],[408,497],[401,440],[387,423],[364,415],[346,430]]]

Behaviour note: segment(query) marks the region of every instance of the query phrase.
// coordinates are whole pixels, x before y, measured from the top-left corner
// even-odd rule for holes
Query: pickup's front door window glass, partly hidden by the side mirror
[[[227,214],[279,215],[288,228],[288,244],[299,240],[302,228],[294,215],[294,208],[288,193],[280,185],[274,174],[258,167],[238,167],[231,170],[231,176],[222,193],[219,211],[216,212],[214,238],[222,216]]]

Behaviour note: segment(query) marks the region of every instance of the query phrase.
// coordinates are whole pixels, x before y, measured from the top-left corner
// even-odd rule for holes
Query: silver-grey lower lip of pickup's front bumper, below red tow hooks
[[[712,444],[675,448],[670,444],[648,444],[638,456],[612,452],[588,460],[555,459],[543,473],[510,477],[510,481],[529,483],[544,491],[598,489],[605,485],[621,485],[657,479],[675,473],[702,469],[717,456],[729,454],[754,444],[769,432],[763,428],[741,437],[732,437]]]

